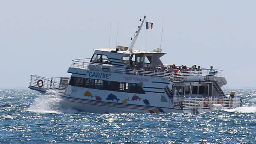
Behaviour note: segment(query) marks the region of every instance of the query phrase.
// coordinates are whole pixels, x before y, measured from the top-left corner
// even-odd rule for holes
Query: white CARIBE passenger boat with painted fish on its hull
[[[42,94],[54,90],[68,106],[92,113],[201,114],[242,106],[235,92],[223,92],[222,70],[166,66],[161,48],[134,49],[145,19],[130,46],[98,48],[91,58],[72,60],[71,77],[31,75],[28,88]]]

